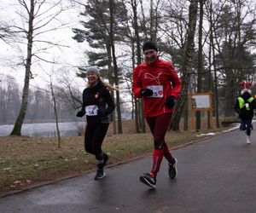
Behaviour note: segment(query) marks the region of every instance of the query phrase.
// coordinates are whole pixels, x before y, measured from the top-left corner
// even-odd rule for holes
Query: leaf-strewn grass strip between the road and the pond
[[[168,132],[170,148],[198,140],[190,132]],[[84,136],[61,137],[61,148],[54,137],[0,137],[0,192],[54,181],[63,176],[96,169],[94,156],[84,152]],[[151,154],[153,138],[146,134],[107,135],[102,149],[111,153],[108,164],[117,164]]]

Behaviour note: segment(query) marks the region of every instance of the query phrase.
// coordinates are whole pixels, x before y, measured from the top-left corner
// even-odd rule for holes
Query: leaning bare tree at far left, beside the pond
[[[54,3],[52,3],[54,2]],[[27,98],[30,85],[30,79],[33,78],[32,63],[35,60],[44,60],[40,53],[44,52],[48,47],[38,48],[37,51],[33,51],[33,46],[36,43],[47,43],[48,45],[55,46],[57,43],[52,43],[48,40],[40,39],[40,36],[45,32],[51,32],[56,30],[54,27],[50,28],[49,23],[56,19],[61,14],[63,9],[61,8],[61,0],[48,2],[46,0],[17,0],[22,10],[17,10],[16,13],[20,15],[20,20],[24,22],[20,25],[16,24],[9,26],[9,32],[14,35],[20,35],[20,43],[26,43],[26,56],[23,60],[25,66],[25,79],[24,87],[22,91],[22,100],[20,105],[20,112],[15,121],[14,129],[10,135],[21,135],[21,127],[26,117]],[[40,44],[38,44],[40,46]]]

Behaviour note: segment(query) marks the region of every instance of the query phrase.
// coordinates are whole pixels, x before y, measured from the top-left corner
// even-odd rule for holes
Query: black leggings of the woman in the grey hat
[[[84,134],[84,148],[86,153],[96,156],[97,160],[102,159],[102,142],[108,131],[109,124],[87,124]]]

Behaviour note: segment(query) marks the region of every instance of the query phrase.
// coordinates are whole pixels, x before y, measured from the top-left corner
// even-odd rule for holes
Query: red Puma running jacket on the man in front
[[[154,95],[143,97],[145,117],[154,117],[163,113],[173,112],[166,107],[166,98],[170,95],[178,97],[182,88],[172,63],[166,60],[155,60],[148,64],[143,62],[133,71],[132,93],[136,98],[142,98],[141,89],[153,89]]]

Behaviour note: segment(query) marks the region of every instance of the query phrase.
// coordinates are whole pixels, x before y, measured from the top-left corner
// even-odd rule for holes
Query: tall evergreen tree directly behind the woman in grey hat
[[[73,38],[80,43],[87,41],[90,47],[95,49],[93,52],[86,52],[89,64],[105,68],[102,69],[102,77],[107,77],[109,83],[115,83],[118,86],[120,72],[116,63],[114,43],[123,39],[121,35],[125,31],[125,14],[127,13],[125,4],[122,1],[89,0],[84,8],[84,13],[81,13],[85,18],[81,21],[84,29],[73,29],[75,33]],[[119,91],[116,92],[116,102],[118,129],[119,133],[122,133]]]

